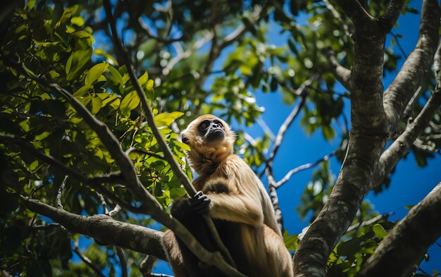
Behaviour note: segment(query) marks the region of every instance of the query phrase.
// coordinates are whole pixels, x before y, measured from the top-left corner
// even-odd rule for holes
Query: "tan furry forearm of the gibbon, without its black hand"
[[[261,204],[255,199],[231,194],[208,194],[208,197],[211,199],[210,215],[213,218],[251,226],[263,225]]]

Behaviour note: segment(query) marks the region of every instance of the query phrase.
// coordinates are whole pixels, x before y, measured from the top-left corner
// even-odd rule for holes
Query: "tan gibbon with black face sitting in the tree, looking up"
[[[209,213],[221,240],[247,276],[293,276],[271,201],[261,181],[240,157],[232,154],[235,134],[213,115],[200,116],[182,132],[190,146],[190,166],[198,174],[192,199],[178,199],[171,214],[211,252],[218,251],[202,214]],[[163,235],[163,247],[176,277],[224,276],[201,263],[172,231]]]

